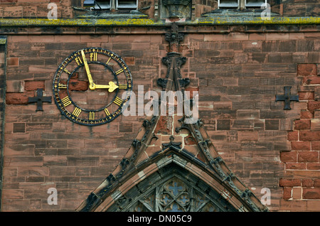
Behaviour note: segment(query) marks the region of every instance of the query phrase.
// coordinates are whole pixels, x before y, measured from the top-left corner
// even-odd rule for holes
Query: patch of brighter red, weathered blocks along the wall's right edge
[[[319,71],[316,63],[297,64],[299,99],[306,105],[300,117],[288,131],[291,151],[282,151],[280,160],[285,164],[286,177],[279,185],[284,188],[282,203],[285,208],[313,211],[320,206],[319,159]],[[297,202],[300,201],[299,208]]]

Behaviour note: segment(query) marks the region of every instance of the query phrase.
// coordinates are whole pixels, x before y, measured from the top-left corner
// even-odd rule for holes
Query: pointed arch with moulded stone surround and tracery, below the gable
[[[247,190],[236,193],[190,154],[171,150],[119,186],[95,211],[107,212],[235,212],[260,211]],[[201,173],[200,173],[201,172]],[[200,173],[200,175],[199,175]]]

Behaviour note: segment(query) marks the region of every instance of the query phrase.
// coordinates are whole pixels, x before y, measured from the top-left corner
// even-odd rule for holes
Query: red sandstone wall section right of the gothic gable
[[[316,37],[319,34],[198,34],[186,43],[193,50],[183,50],[191,57],[188,74],[199,80],[201,117],[213,144],[256,193],[271,189],[274,210],[319,209]],[[274,93],[282,94],[285,85],[301,99],[288,111],[274,102]],[[285,183],[287,178],[296,183]]]

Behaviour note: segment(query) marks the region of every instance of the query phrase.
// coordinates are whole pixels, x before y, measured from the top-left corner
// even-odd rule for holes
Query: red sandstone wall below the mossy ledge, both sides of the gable
[[[52,96],[59,63],[102,47],[129,65],[144,92],[166,75],[163,35],[9,36],[2,209],[75,210],[122,159],[144,117],[84,127],[55,104],[26,104],[38,87]],[[319,210],[319,33],[189,33],[183,77],[199,90],[200,117],[219,154],[270,210]],[[292,86],[300,102],[284,110],[275,95]],[[58,205],[48,205],[57,188]]]

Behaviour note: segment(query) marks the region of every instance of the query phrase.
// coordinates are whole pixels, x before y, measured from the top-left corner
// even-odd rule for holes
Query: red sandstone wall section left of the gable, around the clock
[[[135,84],[159,77],[161,36],[9,36],[2,210],[75,210],[123,158],[144,117],[118,117],[100,127],[71,123],[53,104],[27,104],[36,89],[53,96],[58,64],[85,47],[124,58]],[[135,87],[137,91],[137,86]],[[48,205],[57,188],[58,205]]]

